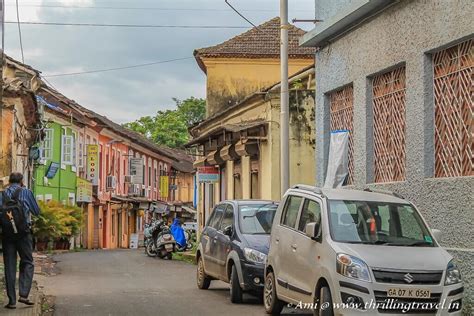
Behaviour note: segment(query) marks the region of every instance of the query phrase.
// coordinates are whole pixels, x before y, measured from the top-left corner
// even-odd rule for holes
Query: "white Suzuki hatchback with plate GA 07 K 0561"
[[[265,309],[460,315],[461,275],[434,235],[396,194],[294,186],[272,226]]]

